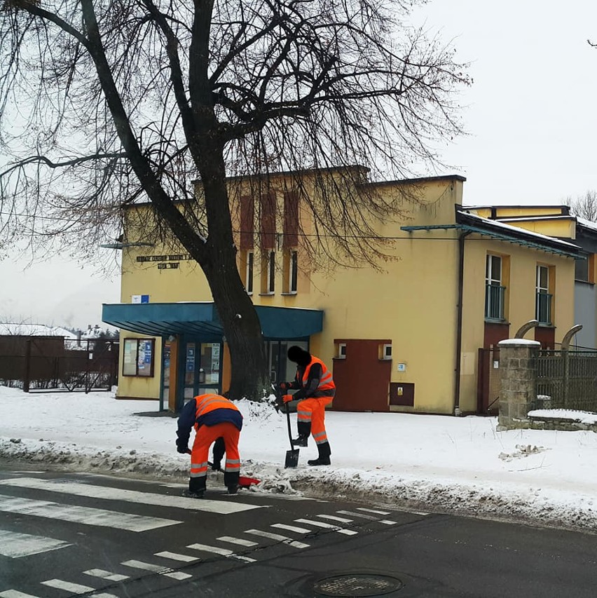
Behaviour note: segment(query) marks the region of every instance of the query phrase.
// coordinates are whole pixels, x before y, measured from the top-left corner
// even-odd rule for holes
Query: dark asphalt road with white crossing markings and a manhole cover
[[[210,480],[0,470],[0,598],[594,598],[597,538]]]

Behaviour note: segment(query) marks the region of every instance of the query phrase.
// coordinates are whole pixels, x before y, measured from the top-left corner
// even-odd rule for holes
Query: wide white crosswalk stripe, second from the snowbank
[[[15,498],[0,494],[0,511],[46,517],[47,519],[60,519],[85,525],[101,527],[115,527],[127,531],[147,531],[158,527],[181,523],[174,519],[161,519],[160,517],[144,517],[130,515],[117,511],[96,509],[92,507],[78,507],[75,505],[60,505],[50,501],[36,501],[32,498]]]

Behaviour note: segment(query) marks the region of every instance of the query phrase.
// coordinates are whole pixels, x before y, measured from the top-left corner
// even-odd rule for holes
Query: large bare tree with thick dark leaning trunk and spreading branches
[[[92,254],[123,205],[149,200],[210,284],[231,397],[260,396],[266,356],[227,177],[364,165],[387,179],[437,164],[469,80],[450,47],[409,27],[412,4],[0,0],[4,238]],[[375,261],[373,223],[399,198],[363,186],[363,168],[338,172],[316,177],[317,193],[297,181],[317,223],[311,250]]]

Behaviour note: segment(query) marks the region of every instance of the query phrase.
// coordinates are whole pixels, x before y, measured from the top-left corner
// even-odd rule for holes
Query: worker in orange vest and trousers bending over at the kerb
[[[188,438],[193,427],[195,440],[191,451],[188,449]],[[223,441],[226,451],[224,484],[228,487],[228,494],[237,493],[240,474],[238,439],[241,428],[242,414],[233,402],[220,395],[199,395],[183,407],[178,419],[176,446],[179,453],[191,454],[188,496],[203,498],[210,446],[220,438],[222,440],[218,444]]]

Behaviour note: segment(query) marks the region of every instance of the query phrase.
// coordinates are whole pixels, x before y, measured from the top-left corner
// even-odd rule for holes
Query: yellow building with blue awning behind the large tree
[[[311,176],[303,173],[306,186]],[[259,313],[272,381],[294,376],[286,351],[299,344],[332,368],[334,409],[486,412],[483,349],[535,318],[536,339],[561,340],[575,323],[579,247],[497,222],[491,208],[463,209],[464,182],[451,175],[365,183],[380,196],[404,196],[399,217],[376,225],[392,253],[378,269],[313,267],[304,247],[311,224],[287,175],[270,176],[260,210],[246,190],[231,195],[238,268]],[[129,208],[125,223],[148,209]],[[292,224],[298,218],[304,238]],[[121,327],[118,397],[175,409],[200,392],[225,391],[226,343],[198,265],[166,245],[135,243],[135,226],[124,238],[122,303],[104,306],[103,315]]]

